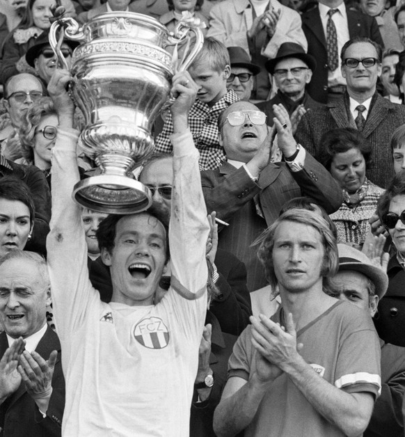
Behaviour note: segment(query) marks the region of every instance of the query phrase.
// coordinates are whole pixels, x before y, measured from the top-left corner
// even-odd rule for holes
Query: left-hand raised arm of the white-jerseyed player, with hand
[[[72,199],[74,184],[79,181],[76,153],[79,132],[72,129],[74,105],[65,90],[71,79],[69,72],[56,70],[48,86],[59,126],[52,150],[52,216],[47,262],[56,330],[61,340],[71,335],[81,322],[92,291],[94,299],[97,296],[88,280],[81,207]]]

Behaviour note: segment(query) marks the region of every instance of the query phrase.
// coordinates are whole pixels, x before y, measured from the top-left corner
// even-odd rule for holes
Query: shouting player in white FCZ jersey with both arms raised
[[[88,280],[79,181],[78,132],[58,71],[49,93],[59,129],[52,157],[52,218],[47,240],[56,330],[66,376],[64,436],[188,436],[198,347],[207,308],[205,244],[209,232],[198,152],[187,125],[198,87],[188,73],[173,78],[173,200],[170,231],[154,205],[109,216],[100,225],[102,259],[110,267],[111,303]],[[168,242],[169,241],[169,242]],[[159,301],[168,262],[171,285]],[[158,302],[159,301],[159,302]]]

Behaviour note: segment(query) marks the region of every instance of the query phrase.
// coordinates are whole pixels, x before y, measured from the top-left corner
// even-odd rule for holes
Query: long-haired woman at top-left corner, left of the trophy
[[[35,40],[51,26],[51,7],[60,6],[60,0],[29,0],[16,29],[11,31],[3,43],[0,80],[3,84],[17,73],[35,71],[26,63],[26,51],[35,45]]]

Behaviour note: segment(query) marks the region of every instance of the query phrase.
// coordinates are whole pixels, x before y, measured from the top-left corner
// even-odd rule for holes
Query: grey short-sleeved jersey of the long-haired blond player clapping
[[[271,317],[283,323],[283,308]],[[381,390],[380,345],[372,319],[352,303],[337,301],[331,308],[296,333],[303,343],[301,356],[319,378],[347,392]],[[255,349],[248,326],[235,344],[228,376],[246,381],[255,372]],[[264,395],[245,437],[343,437],[342,431],[312,407],[283,373]]]

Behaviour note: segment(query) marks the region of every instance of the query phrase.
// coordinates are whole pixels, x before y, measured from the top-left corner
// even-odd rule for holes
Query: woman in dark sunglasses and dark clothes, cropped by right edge
[[[374,324],[384,342],[405,346],[405,170],[392,179],[377,212],[396,253],[388,262],[388,290],[379,302]]]

